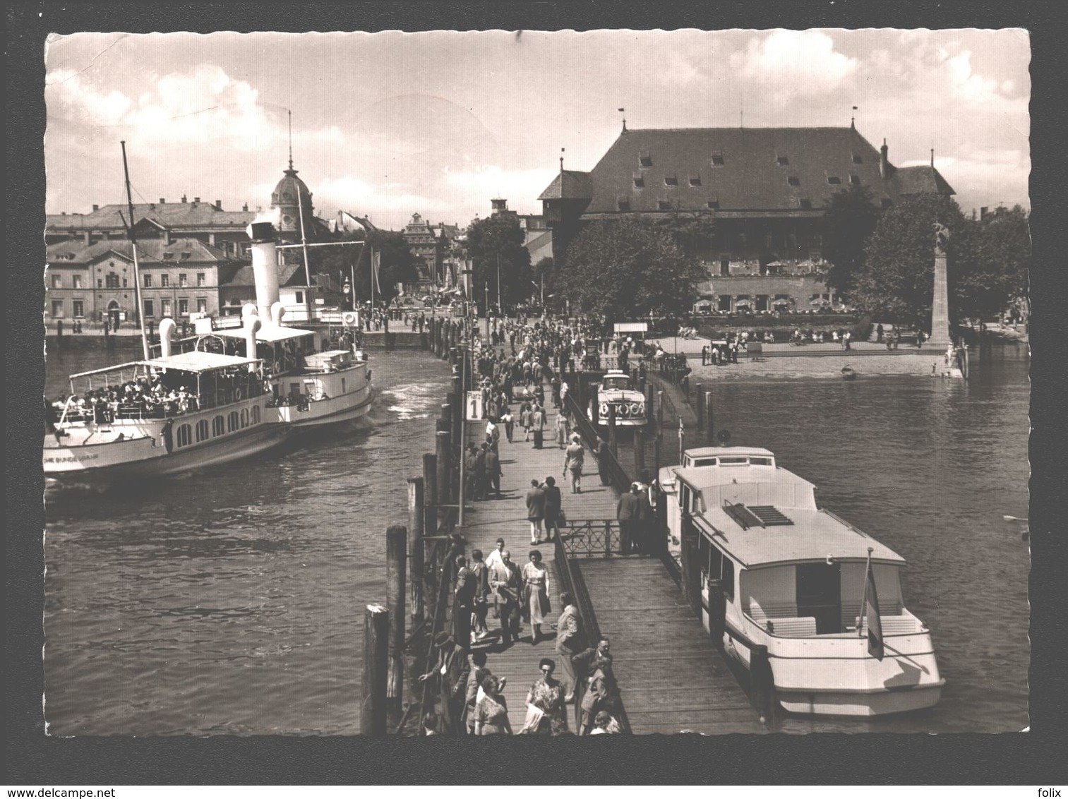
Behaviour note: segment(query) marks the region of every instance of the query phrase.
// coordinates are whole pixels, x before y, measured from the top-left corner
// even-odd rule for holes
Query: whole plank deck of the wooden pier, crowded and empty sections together
[[[546,389],[548,401],[550,392]],[[548,638],[531,644],[530,625],[524,624],[519,643],[503,651],[492,644],[486,648],[489,670],[499,677],[507,677],[504,695],[515,731],[522,726],[525,717],[527,691],[539,676],[538,660],[557,659],[550,625],[562,610],[559,595],[562,571],[567,567],[557,562],[563,547],[557,550],[550,544],[530,544],[524,498],[531,480],[540,483],[548,475],[556,480],[572,528],[581,524],[581,520],[603,524],[604,520],[614,521],[616,515],[616,491],[612,486],[601,485],[597,461],[588,446],[582,492],[570,492],[569,481],[563,474],[564,451],[553,436],[559,410],[548,407],[547,413],[544,449],[536,450],[532,442],[523,441],[522,427],[518,425],[512,443],[502,429],[499,449],[503,498],[467,502],[465,523],[456,529],[466,540],[468,557],[473,549],[488,555],[496,547],[496,539],[503,537],[513,562],[520,568],[534,548],[549,565],[552,612],[543,626],[543,634]],[[484,438],[484,422],[468,423],[468,441]],[[568,531],[565,529],[564,533],[566,539]],[[757,711],[750,706],[734,674],[658,558],[618,554],[606,558],[601,552],[570,561],[579,583],[576,593],[586,594],[577,597],[579,607],[585,611],[584,615],[593,615],[586,620],[587,628],[599,629],[612,642],[613,668],[631,732],[765,732]],[[492,613],[488,623],[490,630],[499,628]],[[559,664],[556,676],[564,676]],[[569,722],[572,719],[574,708],[569,708]]]

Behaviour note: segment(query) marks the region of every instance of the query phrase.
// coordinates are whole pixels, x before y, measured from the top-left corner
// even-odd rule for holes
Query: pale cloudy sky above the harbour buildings
[[[969,213],[1030,207],[1019,29],[76,33],[46,46],[46,212],[183,194],[267,208],[292,147],[315,213],[540,213],[627,127],[848,126]],[[857,107],[853,110],[853,107]],[[624,108],[624,112],[619,112]],[[290,116],[292,113],[292,116]],[[563,153],[562,153],[563,148]]]

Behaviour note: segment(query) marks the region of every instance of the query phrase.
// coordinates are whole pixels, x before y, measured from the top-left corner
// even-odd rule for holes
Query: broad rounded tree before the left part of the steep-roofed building
[[[686,313],[707,278],[670,232],[624,218],[590,222],[568,248],[553,286],[612,322]]]

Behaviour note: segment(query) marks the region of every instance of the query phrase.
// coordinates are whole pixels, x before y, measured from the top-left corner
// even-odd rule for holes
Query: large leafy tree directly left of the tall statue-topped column
[[[884,319],[915,325],[930,320],[934,287],[934,222],[951,232],[953,273],[958,237],[967,220],[952,198],[907,198],[884,210],[864,246],[864,263],[853,276],[852,303]],[[953,295],[951,295],[953,297]],[[953,312],[951,302],[951,313]]]

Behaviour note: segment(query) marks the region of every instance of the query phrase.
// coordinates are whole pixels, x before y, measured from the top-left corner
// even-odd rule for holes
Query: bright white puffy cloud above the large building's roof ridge
[[[822,31],[772,31],[750,40],[744,52],[731,54],[731,65],[749,78],[787,82],[795,91],[827,92],[849,77],[858,61],[834,49]]]

